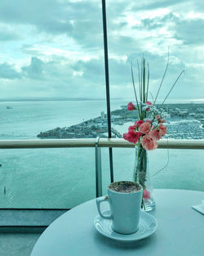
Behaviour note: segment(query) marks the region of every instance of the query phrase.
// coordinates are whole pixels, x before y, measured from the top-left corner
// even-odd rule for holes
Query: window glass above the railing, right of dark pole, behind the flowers
[[[162,88],[157,96],[161,104],[172,85],[184,70],[164,108],[168,119],[168,137],[174,139],[204,138],[204,5],[202,1],[107,1],[109,36],[109,74],[113,113],[113,128],[121,133],[137,119],[136,110],[128,112],[128,102],[135,102],[131,83],[131,63],[135,87],[139,95],[137,61],[149,62],[149,101],[154,102],[166,69]],[[125,101],[126,100],[126,101]],[[112,105],[113,106],[113,105]],[[121,124],[121,125],[118,125]]]

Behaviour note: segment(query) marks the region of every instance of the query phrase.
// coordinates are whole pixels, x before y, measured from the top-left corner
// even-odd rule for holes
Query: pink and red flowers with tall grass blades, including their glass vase
[[[166,65],[168,68],[169,58]],[[128,132],[123,134],[123,138],[126,141],[130,141],[135,144],[135,168],[134,168],[134,182],[140,183],[144,188],[143,195],[143,207],[145,210],[151,210],[155,207],[155,201],[153,200],[151,186],[149,185],[149,173],[148,173],[148,156],[147,150],[155,150],[157,148],[157,141],[161,140],[166,135],[166,118],[169,115],[162,109],[166,98],[169,96],[171,90],[175,87],[178,79],[180,79],[180,73],[175,83],[172,85],[171,90],[167,93],[161,106],[156,106],[157,96],[162,88],[163,79],[166,75],[166,70],[162,77],[162,82],[157,90],[155,99],[149,92],[149,64],[146,64],[145,59],[142,59],[141,65],[137,62],[138,74],[139,74],[139,95],[135,89],[135,79],[133,74],[133,68],[131,65],[131,79],[135,92],[134,105],[130,102],[127,106],[128,110],[137,110],[137,119],[135,124],[128,128]],[[152,101],[149,101],[149,94],[152,96]]]

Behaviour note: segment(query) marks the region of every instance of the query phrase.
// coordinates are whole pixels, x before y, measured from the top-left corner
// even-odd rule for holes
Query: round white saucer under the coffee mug
[[[104,211],[104,213],[104,215],[109,215],[109,210]],[[149,213],[145,213],[144,211],[140,212],[138,231],[131,235],[122,235],[117,233],[116,231],[113,231],[112,220],[102,218],[99,214],[95,216],[94,225],[96,230],[99,231],[101,235],[125,243],[141,240],[148,236],[151,236],[153,232],[157,229],[156,219],[152,215],[150,215]]]

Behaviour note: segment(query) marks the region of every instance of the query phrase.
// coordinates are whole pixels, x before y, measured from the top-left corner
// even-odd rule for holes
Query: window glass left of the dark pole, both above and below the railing
[[[1,1],[0,139],[105,137],[103,45],[101,2]],[[1,207],[72,208],[93,198],[94,154],[1,150]]]

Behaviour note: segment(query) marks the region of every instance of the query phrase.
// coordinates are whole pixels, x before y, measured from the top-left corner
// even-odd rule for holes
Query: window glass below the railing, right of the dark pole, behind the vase
[[[114,179],[132,180],[135,164],[134,149],[114,149]],[[203,150],[148,151],[150,182],[153,188],[204,191]],[[109,184],[109,179],[106,181]],[[104,187],[104,191],[107,188]]]

